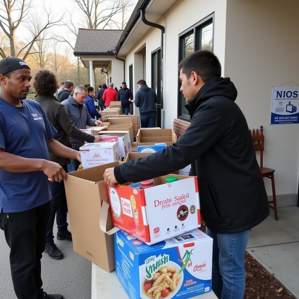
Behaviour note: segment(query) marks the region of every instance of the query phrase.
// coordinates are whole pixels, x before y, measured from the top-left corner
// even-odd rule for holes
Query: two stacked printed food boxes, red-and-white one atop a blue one
[[[178,180],[176,180],[178,179]],[[168,175],[107,186],[116,275],[129,298],[190,298],[211,290],[213,240],[198,230],[196,177]]]

